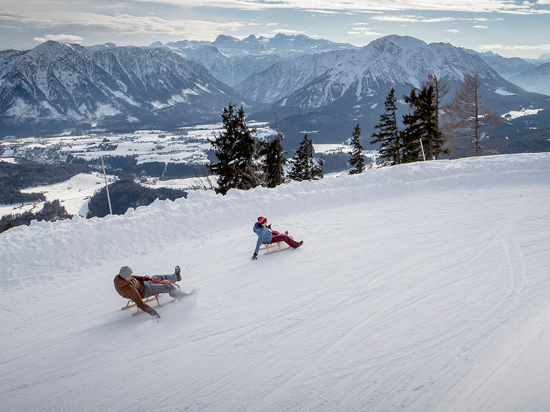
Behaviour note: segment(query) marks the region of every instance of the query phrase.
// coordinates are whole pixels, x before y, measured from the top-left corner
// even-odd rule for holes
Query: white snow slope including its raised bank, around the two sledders
[[[537,153],[15,227],[0,409],[548,411],[549,205]],[[304,245],[252,261],[258,216]],[[196,293],[131,316],[123,265]]]

